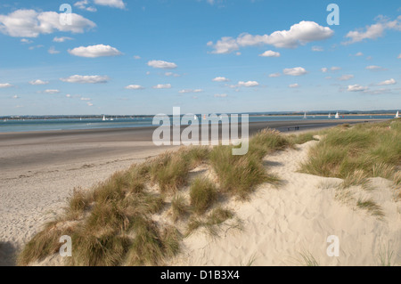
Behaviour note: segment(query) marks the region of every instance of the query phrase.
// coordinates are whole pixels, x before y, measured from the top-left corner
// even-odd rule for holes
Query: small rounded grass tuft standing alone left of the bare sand
[[[217,200],[216,185],[207,178],[196,178],[191,184],[191,206],[197,214],[203,214]]]

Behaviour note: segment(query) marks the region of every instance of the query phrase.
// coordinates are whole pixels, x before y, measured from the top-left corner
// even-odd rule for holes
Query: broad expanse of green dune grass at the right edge
[[[401,121],[334,127],[325,132],[301,165],[301,171],[346,179],[356,170],[366,177],[396,174],[391,168],[401,164]]]

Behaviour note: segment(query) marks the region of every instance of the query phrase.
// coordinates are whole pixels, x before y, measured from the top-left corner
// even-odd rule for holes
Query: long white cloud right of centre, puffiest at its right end
[[[241,47],[256,45],[274,45],[274,47],[295,48],[310,42],[332,37],[334,31],[328,27],[322,27],[314,21],[302,20],[291,26],[289,30],[278,30],[270,35],[253,36],[243,33],[237,38],[222,37],[216,44],[209,42],[208,45],[214,50],[212,53],[232,53]]]

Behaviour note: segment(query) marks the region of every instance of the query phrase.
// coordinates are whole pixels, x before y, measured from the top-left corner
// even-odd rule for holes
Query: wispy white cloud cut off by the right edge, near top
[[[355,44],[363,41],[364,39],[377,39],[383,37],[386,29],[395,29],[401,31],[401,16],[396,20],[389,20],[389,18],[379,16],[376,18],[377,22],[365,28],[358,28],[354,31],[349,31],[346,38],[349,38],[344,45]]]

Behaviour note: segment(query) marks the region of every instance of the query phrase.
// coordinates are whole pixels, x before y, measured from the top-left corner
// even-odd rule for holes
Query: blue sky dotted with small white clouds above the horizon
[[[401,108],[398,1],[2,1],[0,41],[1,116]]]

